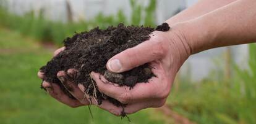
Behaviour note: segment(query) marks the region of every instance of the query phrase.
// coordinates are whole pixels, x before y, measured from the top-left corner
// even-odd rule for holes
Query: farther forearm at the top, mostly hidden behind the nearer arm
[[[200,17],[201,15],[207,14],[208,12],[211,12],[212,10],[218,9],[220,7],[226,6],[234,1],[237,0],[200,0],[188,9],[183,10],[179,14],[174,15],[174,17],[169,18],[169,20],[167,20],[166,22],[172,26],[182,21],[187,21]]]

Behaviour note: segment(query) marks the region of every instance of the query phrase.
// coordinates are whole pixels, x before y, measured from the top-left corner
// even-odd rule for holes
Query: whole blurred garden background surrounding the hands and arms
[[[197,0],[0,0],[0,123],[256,123],[256,45],[190,56],[165,106],[120,117],[70,109],[40,89],[38,69],[75,32],[155,27]]]

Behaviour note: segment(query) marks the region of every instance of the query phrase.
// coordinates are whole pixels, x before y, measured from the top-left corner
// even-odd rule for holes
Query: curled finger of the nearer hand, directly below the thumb
[[[132,89],[126,86],[119,87],[113,85],[111,82],[106,82],[105,77],[98,73],[92,72],[91,75],[102,93],[124,104],[145,101],[145,99],[165,98],[169,95],[170,85],[162,75],[152,77],[148,80],[148,83],[137,83]]]

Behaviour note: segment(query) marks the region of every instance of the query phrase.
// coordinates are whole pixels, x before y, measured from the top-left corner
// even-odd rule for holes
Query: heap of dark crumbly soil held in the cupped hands
[[[160,28],[156,29],[168,31],[169,26],[166,24],[163,23]],[[99,72],[109,82],[117,83],[120,86],[126,85],[130,88],[134,87],[137,82],[147,82],[148,79],[154,76],[148,64],[143,64],[120,74],[114,74],[106,69],[106,63],[117,53],[150,39],[149,34],[153,31],[155,31],[154,28],[119,24],[117,27],[95,28],[88,32],[85,31],[75,34],[73,37],[68,37],[64,40],[65,50],[54,56],[46,66],[40,68],[45,73],[43,80],[57,83],[70,98],[74,98],[57,77],[59,71],[67,71],[70,68],[74,68],[78,71],[74,76],[74,82],[76,84],[82,83],[87,89],[86,93],[88,95],[96,95],[98,104],[101,104],[103,100],[108,100],[116,106],[124,107],[125,105],[116,99],[100,93],[96,83],[90,77],[90,72]]]

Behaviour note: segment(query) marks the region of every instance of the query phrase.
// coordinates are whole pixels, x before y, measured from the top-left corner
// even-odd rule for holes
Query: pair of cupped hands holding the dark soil
[[[64,47],[56,50],[54,55],[58,55],[62,50]],[[96,72],[92,72],[91,77],[95,80],[101,93],[127,104],[124,108],[126,114],[132,114],[148,107],[161,107],[166,102],[177,71],[190,53],[186,37],[182,35],[181,31],[177,29],[171,29],[168,32],[154,31],[150,40],[124,50],[113,56],[106,64],[111,72],[124,72],[139,65],[150,63],[151,71],[156,77],[149,79],[148,83],[137,83],[134,88],[129,89],[129,87],[119,87],[116,83],[108,82],[105,77]],[[90,103],[89,96],[84,93],[85,87],[82,84],[75,85],[70,78],[67,78],[67,76],[74,77],[76,72],[75,69],[69,69],[67,72],[59,71],[57,74],[62,84],[75,99],[69,98],[56,83],[44,81],[43,87],[50,96],[70,107],[93,104],[114,115],[122,114],[122,107],[116,107],[109,101],[103,101],[101,105],[98,105],[92,99],[92,103]],[[43,76],[42,72],[38,72],[38,77],[43,79]]]

